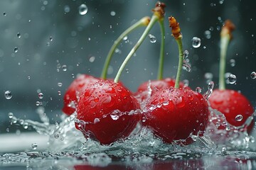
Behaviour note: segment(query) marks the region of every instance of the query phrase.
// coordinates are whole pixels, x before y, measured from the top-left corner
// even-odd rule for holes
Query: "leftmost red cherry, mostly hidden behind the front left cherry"
[[[76,78],[68,87],[68,90],[65,92],[63,101],[63,113],[67,115],[71,115],[75,112],[75,108],[78,105],[78,101],[82,92],[87,89],[92,83],[99,81],[99,79],[92,77],[87,74],[81,74],[78,78]]]

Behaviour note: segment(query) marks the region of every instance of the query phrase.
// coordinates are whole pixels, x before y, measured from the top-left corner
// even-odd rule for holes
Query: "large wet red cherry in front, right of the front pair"
[[[166,104],[168,102],[168,104]],[[151,106],[159,106],[150,109]],[[150,128],[154,135],[161,137],[164,142],[174,140],[181,145],[193,142],[193,135],[203,135],[208,123],[209,111],[206,99],[190,89],[162,89],[151,96],[146,104],[146,121],[143,123]]]

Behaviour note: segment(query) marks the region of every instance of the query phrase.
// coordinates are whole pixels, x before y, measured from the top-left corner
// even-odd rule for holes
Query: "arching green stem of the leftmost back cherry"
[[[134,23],[132,26],[127,28],[127,30],[124,30],[124,32],[121,35],[119,35],[117,40],[114,41],[114,44],[112,45],[109,53],[107,54],[107,58],[105,60],[104,67],[102,69],[102,74],[101,74],[102,79],[107,79],[107,69],[110,65],[110,61],[114,54],[114,50],[117,49],[117,46],[120,44],[120,42],[122,42],[124,37],[127,36],[129,33],[131,33],[133,30],[136,30],[137,28],[139,28],[141,26],[147,26],[149,24],[149,21],[150,21],[150,18],[148,16],[145,16],[144,18],[140,19],[137,23]]]

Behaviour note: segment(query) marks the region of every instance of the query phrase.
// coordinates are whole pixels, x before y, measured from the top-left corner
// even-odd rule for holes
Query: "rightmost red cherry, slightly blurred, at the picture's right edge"
[[[223,113],[227,122],[236,127],[244,125],[247,118],[254,112],[250,101],[238,91],[215,89],[209,98],[209,102],[211,108]],[[242,115],[241,121],[235,120],[237,115]],[[249,127],[252,129],[253,125]]]

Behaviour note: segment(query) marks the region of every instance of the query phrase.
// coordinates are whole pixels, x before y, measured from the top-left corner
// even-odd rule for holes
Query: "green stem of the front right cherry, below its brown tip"
[[[183,47],[182,47],[182,41],[181,37],[175,39],[178,44],[178,71],[176,75],[176,81],[174,88],[179,88],[179,81],[181,79],[181,70],[182,70],[182,64],[183,64]]]

